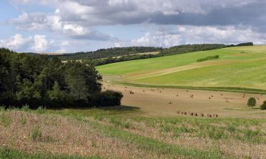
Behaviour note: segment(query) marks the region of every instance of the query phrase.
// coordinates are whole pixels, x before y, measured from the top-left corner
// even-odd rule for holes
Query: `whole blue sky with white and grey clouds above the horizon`
[[[16,52],[241,42],[266,45],[265,0],[0,1],[0,47]]]

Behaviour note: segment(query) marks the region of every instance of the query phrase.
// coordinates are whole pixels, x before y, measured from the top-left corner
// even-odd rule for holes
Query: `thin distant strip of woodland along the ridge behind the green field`
[[[189,52],[199,52],[211,49],[221,49],[225,47],[250,46],[253,42],[246,42],[239,45],[223,44],[200,44],[200,45],[179,45],[162,49],[162,47],[114,47],[110,49],[99,49],[96,52],[77,52],[74,54],[56,55],[61,60],[82,60],[85,64],[99,66],[120,61],[130,61],[135,59],[149,59],[154,57],[164,57],[174,54],[184,54]],[[159,52],[159,54],[138,54],[143,52]],[[54,56],[48,56],[50,58]]]

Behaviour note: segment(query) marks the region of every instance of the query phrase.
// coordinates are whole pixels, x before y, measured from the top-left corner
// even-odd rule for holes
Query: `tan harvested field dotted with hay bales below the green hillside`
[[[259,110],[258,107],[250,109],[246,106],[250,97],[255,97],[257,105],[261,105],[266,100],[266,95],[174,88],[140,88],[111,83],[104,83],[104,88],[121,91],[124,95],[122,105],[140,107],[140,110],[150,115],[177,115],[177,110],[181,110],[204,114],[216,113],[219,117],[266,117],[266,111]]]

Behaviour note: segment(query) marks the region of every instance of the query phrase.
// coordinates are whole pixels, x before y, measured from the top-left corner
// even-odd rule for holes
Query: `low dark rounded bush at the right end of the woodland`
[[[121,105],[121,99],[123,98],[123,94],[121,92],[106,90],[101,93],[96,93],[89,99],[95,107],[99,106],[116,106]]]

